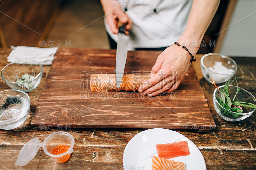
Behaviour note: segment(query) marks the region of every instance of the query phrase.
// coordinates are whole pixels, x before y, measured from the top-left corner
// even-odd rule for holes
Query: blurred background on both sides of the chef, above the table
[[[220,1],[198,53],[256,56],[255,3]],[[0,47],[109,49],[103,16],[100,0],[1,0]]]

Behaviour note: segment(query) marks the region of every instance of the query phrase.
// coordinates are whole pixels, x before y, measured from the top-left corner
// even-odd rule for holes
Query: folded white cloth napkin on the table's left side
[[[42,65],[51,65],[54,59],[54,55],[57,52],[58,47],[53,48],[38,48],[38,47],[28,47],[28,46],[11,46],[12,51],[7,57],[8,62],[15,62],[17,60],[35,60]],[[19,62],[16,62],[21,64]]]

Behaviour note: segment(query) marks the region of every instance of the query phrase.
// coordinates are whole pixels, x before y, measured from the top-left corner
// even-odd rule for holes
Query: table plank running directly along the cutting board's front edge
[[[28,127],[29,124],[26,125]],[[64,131],[69,132],[73,135],[76,145],[115,145],[115,146],[126,146],[129,140],[135,136],[137,133],[143,131],[144,129],[76,129],[76,130],[66,130],[63,127]],[[51,133],[58,130],[51,131],[35,131],[33,127],[28,129],[17,128],[15,130],[2,130],[0,144],[6,145],[25,145],[28,142],[28,139],[39,138],[40,141],[44,139]],[[195,130],[180,130],[175,129],[182,135],[189,138],[195,145],[199,148],[228,148],[228,149],[255,149],[255,140],[252,140],[252,137],[245,136],[243,131],[235,131],[232,133],[233,136],[228,135],[223,137],[222,131],[221,134],[213,130],[211,133],[198,133]],[[230,130],[228,130],[230,131]],[[228,131],[226,132],[228,134]],[[26,138],[18,138],[21,134],[26,134]],[[255,134],[252,134],[255,135]],[[246,138],[247,137],[247,138]],[[104,140],[103,140],[104,139]],[[250,143],[248,142],[250,141]],[[210,141],[210,142],[209,142]]]

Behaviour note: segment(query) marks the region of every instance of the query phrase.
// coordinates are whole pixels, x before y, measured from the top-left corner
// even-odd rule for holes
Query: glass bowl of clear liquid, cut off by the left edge
[[[19,127],[28,117],[30,98],[20,90],[0,92],[0,129]]]

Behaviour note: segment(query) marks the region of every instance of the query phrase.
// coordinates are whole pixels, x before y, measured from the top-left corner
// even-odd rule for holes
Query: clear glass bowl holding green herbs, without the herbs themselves
[[[218,89],[223,89],[225,85],[218,87]],[[229,85],[228,90],[232,87],[232,85]],[[233,91],[233,89],[236,89],[237,86],[233,86],[233,88],[230,90],[230,93]],[[236,113],[233,111],[229,111],[225,109],[221,104],[218,102],[218,99],[220,99],[220,92],[218,89],[215,89],[213,92],[213,104],[216,112],[218,115],[223,118],[226,121],[230,122],[236,122],[240,120],[244,120],[245,118],[252,115],[252,113],[256,110],[249,107],[243,107],[244,112],[243,113]],[[255,97],[248,92],[247,90],[240,88],[240,92],[236,95],[235,101],[241,101],[241,102],[248,102],[252,104],[256,104]],[[230,99],[232,100],[236,94],[236,90],[231,94]],[[218,99],[217,99],[218,98]]]

